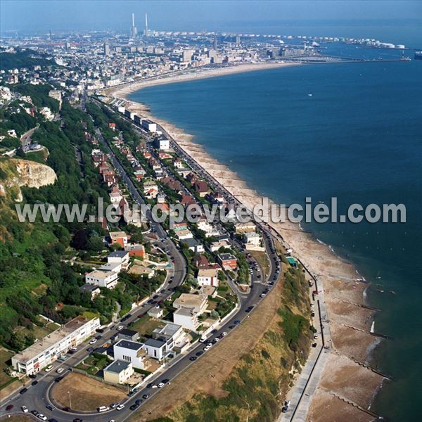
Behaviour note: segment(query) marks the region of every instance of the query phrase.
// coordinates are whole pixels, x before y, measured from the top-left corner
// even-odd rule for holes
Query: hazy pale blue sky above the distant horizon
[[[286,20],[422,18],[422,1],[85,1],[0,0],[1,31],[127,30],[131,13],[143,28],[237,30]],[[261,27],[264,25],[261,25]],[[235,29],[236,30],[236,29]]]

